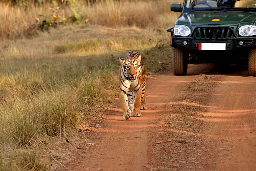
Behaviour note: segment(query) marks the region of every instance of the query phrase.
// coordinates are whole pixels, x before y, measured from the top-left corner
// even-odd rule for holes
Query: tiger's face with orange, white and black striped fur
[[[141,73],[141,57],[140,59],[123,60],[120,58],[121,64],[123,64],[122,72],[126,79],[134,81],[136,77]]]

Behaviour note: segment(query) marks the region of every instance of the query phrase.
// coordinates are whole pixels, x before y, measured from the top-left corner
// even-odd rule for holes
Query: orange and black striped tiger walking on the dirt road
[[[146,74],[138,51],[128,51],[119,58],[119,99],[123,110],[123,119],[140,117],[147,109],[145,100]]]

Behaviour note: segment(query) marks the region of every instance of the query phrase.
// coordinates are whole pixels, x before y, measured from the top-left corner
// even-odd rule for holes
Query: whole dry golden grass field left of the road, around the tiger
[[[169,69],[171,54],[164,30],[136,27],[67,26],[31,40],[5,39],[3,44],[0,144],[14,151],[20,147],[38,151],[41,142],[52,136],[62,140],[84,118],[97,113],[95,109],[116,94],[118,57],[129,49],[141,51],[147,72]],[[64,50],[56,50],[59,47]],[[8,166],[5,151],[9,150],[0,152],[3,168]]]

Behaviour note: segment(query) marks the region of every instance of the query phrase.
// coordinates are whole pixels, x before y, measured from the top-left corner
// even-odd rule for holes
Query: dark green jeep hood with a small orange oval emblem
[[[220,21],[212,21],[212,19],[220,19]],[[187,26],[199,26],[209,24],[243,26],[253,25],[253,23],[255,23],[255,20],[256,13],[241,11],[197,11],[191,13],[182,13],[175,24]]]

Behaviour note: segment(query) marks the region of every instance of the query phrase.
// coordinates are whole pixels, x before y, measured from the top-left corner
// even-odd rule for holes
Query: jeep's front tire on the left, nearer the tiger
[[[183,52],[179,48],[172,48],[172,69],[174,75],[187,74],[187,60],[184,59]]]

